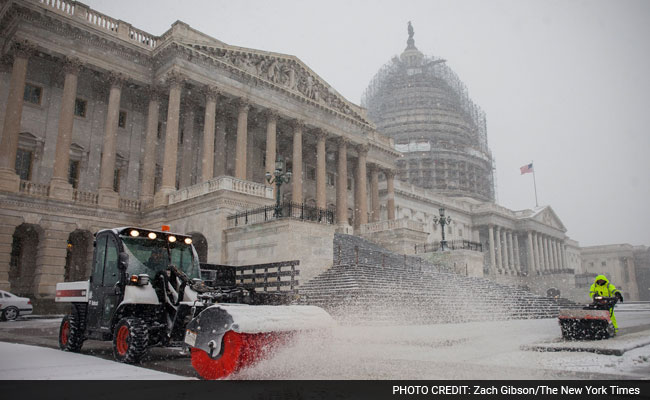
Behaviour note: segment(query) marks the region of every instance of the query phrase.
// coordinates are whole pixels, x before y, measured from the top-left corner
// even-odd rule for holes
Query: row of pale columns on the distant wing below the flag
[[[561,240],[529,231],[526,237],[526,265],[528,274],[557,273],[566,269],[566,248]],[[490,265],[498,273],[521,275],[519,234],[500,226],[488,226]]]

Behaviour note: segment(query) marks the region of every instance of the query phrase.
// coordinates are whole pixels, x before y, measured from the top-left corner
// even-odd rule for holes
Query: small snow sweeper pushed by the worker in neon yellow
[[[601,340],[615,335],[610,310],[618,298],[594,296],[582,309],[561,309],[558,319],[565,340]]]

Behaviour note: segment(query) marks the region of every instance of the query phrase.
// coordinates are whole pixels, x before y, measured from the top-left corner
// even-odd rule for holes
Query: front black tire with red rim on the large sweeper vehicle
[[[119,362],[140,362],[149,344],[149,330],[144,320],[136,317],[122,318],[113,330],[113,356]]]

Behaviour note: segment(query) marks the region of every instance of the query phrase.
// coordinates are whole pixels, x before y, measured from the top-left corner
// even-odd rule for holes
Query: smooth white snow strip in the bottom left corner
[[[2,380],[188,379],[151,369],[45,347],[0,342]]]

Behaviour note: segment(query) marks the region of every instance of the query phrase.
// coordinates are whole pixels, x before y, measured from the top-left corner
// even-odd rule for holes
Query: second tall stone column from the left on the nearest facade
[[[59,112],[59,131],[56,138],[56,157],[50,181],[50,197],[72,200],[72,185],[68,183],[70,169],[70,143],[74,122],[74,103],[77,98],[77,78],[81,69],[79,60],[66,59],[63,62],[65,78],[61,111]]]

